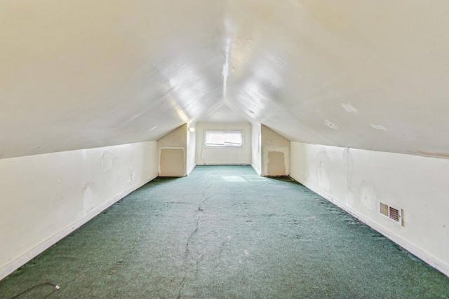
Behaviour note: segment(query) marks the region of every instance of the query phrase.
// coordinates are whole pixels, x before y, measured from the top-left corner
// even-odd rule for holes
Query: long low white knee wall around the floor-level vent
[[[291,142],[290,176],[449,275],[449,160]]]

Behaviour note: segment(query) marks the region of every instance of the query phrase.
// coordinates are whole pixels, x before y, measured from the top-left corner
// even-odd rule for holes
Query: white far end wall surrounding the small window
[[[205,148],[205,130],[243,130],[243,148]],[[196,165],[250,165],[250,123],[196,123]]]

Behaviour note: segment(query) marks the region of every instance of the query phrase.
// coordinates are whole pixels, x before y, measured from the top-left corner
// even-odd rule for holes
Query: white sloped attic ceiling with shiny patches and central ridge
[[[449,2],[4,0],[0,158],[247,119],[449,158]],[[231,116],[232,113],[232,116]]]

